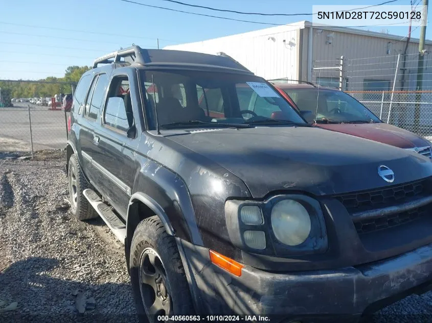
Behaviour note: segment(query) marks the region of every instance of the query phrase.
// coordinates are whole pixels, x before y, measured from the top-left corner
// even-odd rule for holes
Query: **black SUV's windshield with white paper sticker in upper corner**
[[[256,76],[189,70],[141,73],[150,129],[155,129],[154,102],[162,129],[305,124],[279,93]]]

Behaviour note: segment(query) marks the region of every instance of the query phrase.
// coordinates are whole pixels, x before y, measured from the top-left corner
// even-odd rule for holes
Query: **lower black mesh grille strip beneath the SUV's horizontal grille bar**
[[[358,234],[369,233],[377,230],[388,229],[403,225],[407,222],[418,219],[425,216],[430,211],[430,206],[422,206],[410,211],[395,213],[391,215],[369,218],[354,222],[354,227]]]

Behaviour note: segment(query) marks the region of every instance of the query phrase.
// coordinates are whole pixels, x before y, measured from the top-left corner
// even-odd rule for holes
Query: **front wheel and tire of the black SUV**
[[[142,220],[130,246],[130,280],[140,322],[191,315],[192,297],[174,237],[157,216]]]

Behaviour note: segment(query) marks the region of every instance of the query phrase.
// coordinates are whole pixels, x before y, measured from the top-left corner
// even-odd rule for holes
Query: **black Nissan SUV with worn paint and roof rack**
[[[226,55],[108,54],[70,118],[72,212],[124,243],[142,320],[357,318],[429,289],[431,160],[307,125]]]

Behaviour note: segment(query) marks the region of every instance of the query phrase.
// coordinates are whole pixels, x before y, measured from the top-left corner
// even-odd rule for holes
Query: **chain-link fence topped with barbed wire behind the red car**
[[[312,82],[346,91],[382,121],[432,138],[432,55],[314,61]]]

